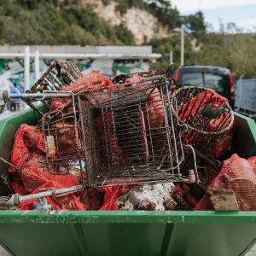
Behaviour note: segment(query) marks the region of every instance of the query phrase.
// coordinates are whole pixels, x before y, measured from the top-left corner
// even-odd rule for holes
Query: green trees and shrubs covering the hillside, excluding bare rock
[[[135,44],[133,34],[122,25],[110,26],[90,6],[80,0],[1,0],[0,44]],[[102,0],[107,5],[108,0]],[[181,16],[168,1],[116,0],[116,11],[144,9],[160,23],[175,27],[185,25],[185,64],[230,67],[235,77],[256,77],[256,36],[242,34],[236,26],[220,33],[207,32],[201,12]],[[232,24],[231,24],[232,25]],[[230,29],[230,30],[229,30]],[[236,34],[234,34],[234,30]],[[232,32],[232,33],[231,33]],[[192,47],[191,42],[194,42]],[[152,68],[167,68],[169,52],[174,54],[174,67],[180,60],[180,34],[153,38],[149,43],[162,58]],[[195,46],[198,46],[197,48]]]

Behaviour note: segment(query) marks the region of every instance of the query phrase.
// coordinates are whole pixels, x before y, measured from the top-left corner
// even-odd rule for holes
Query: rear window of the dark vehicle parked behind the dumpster
[[[227,75],[219,73],[193,72],[183,73],[181,84],[199,85],[224,93],[225,85],[228,84]]]

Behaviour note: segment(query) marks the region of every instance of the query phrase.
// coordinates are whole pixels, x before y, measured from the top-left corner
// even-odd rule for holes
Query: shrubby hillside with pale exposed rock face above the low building
[[[144,44],[180,24],[164,0],[0,1],[0,44]]]

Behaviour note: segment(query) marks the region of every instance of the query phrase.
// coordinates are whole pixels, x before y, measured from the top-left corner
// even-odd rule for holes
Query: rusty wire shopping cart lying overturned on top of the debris
[[[63,108],[44,114],[46,164],[59,166],[57,172],[78,162],[84,172],[85,164],[89,186],[187,181],[166,77],[126,81],[70,92]]]

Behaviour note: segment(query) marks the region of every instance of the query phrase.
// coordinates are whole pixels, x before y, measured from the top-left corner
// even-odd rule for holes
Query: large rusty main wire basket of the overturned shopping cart
[[[165,77],[131,79],[79,95],[88,184],[183,181]]]

